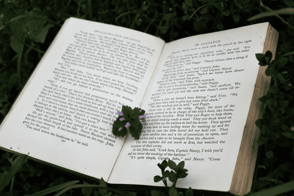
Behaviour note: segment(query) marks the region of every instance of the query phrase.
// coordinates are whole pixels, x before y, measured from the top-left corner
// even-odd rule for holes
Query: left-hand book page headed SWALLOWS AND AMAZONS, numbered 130
[[[125,138],[122,105],[140,105],[165,42],[67,19],[0,126],[1,148],[107,179]]]

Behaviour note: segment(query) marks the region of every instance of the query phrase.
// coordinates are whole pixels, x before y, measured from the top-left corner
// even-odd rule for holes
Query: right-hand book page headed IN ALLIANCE
[[[177,187],[229,191],[267,29],[264,23],[167,43],[141,105],[140,139],[127,138],[109,182],[163,186],[153,177],[170,159],[188,170]]]

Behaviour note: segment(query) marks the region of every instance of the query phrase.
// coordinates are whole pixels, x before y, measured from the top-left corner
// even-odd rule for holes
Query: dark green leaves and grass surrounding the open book
[[[248,21],[266,10],[293,6],[293,0],[0,0],[0,119],[9,111],[63,22],[71,16],[146,32],[166,42],[268,21],[280,33],[278,60],[270,64],[269,54],[259,59],[270,65],[266,74],[273,80],[267,95],[260,98],[267,110],[263,119],[256,121],[262,135],[251,193],[293,182],[294,18],[289,15],[293,11],[280,19],[270,16]],[[0,157],[1,182],[3,174],[13,168],[16,156],[0,151]],[[2,194],[32,194],[72,180],[83,181],[27,162]],[[66,195],[101,196],[99,191],[76,189]],[[293,196],[293,189],[284,195]]]

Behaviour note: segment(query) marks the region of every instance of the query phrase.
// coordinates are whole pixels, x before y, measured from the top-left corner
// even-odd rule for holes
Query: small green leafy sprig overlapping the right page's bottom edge
[[[178,165],[173,162],[172,160],[168,159],[168,162],[166,160],[163,160],[161,164],[157,164],[157,166],[161,169],[162,176],[154,176],[154,182],[162,181],[163,184],[168,187],[167,180],[173,183],[171,188],[168,190],[169,196],[183,196],[183,192],[178,192],[176,190],[176,183],[179,178],[185,178],[188,174],[186,173],[188,170],[184,169],[185,162],[181,161]],[[171,172],[168,170],[165,170],[166,167],[171,168]],[[174,170],[174,171],[173,171]],[[151,196],[164,196],[165,194],[163,192],[159,192],[157,190],[152,190],[150,192]],[[193,196],[193,191],[191,187],[189,187],[186,192],[185,196]]]

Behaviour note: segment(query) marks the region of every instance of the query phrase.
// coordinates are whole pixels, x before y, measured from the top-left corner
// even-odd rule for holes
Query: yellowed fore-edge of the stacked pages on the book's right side
[[[275,57],[277,43],[278,32],[269,24],[263,53],[270,50],[273,53],[273,57]],[[260,130],[255,125],[255,121],[262,118],[265,112],[265,104],[261,103],[258,98],[260,98],[260,95],[265,95],[268,92],[271,81],[271,77],[265,75],[266,68],[267,66],[259,67],[249,113],[244,127],[232,184],[229,190],[229,192],[235,195],[243,196],[251,190],[258,153],[257,139],[260,135]]]

